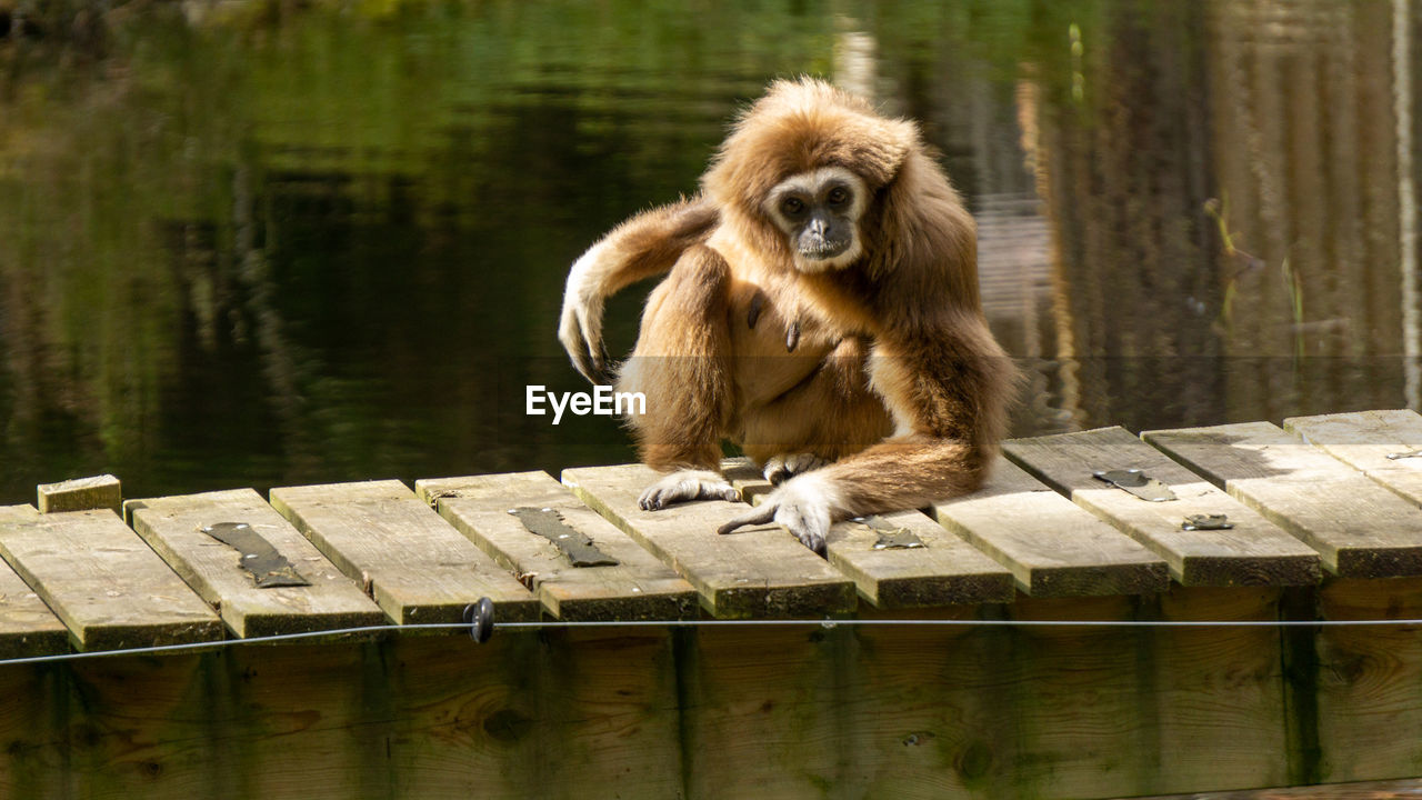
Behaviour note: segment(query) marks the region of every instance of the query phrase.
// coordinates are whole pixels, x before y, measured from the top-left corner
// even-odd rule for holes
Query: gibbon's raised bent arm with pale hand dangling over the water
[[[610,384],[603,346],[603,305],[637,280],[661,275],[720,222],[714,205],[697,195],[623,222],[579,258],[567,273],[557,339],[577,372]]]

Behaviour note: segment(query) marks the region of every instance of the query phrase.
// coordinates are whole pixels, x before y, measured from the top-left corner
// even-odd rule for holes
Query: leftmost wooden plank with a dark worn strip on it
[[[218,608],[237,636],[385,622],[385,615],[354,582],[250,488],[131,500],[124,508],[134,531],[202,599]],[[242,568],[242,554],[203,532],[218,522],[246,522],[310,585],[259,588]]]

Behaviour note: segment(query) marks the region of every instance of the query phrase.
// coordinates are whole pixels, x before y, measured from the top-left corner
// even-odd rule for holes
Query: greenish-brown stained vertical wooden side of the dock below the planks
[[[1374,618],[1413,611],[1415,586],[1176,586],[1005,611]],[[988,608],[1004,606],[967,616]],[[1402,777],[1422,769],[1419,645],[1412,628],[809,622],[3,666],[0,796],[1091,799]]]

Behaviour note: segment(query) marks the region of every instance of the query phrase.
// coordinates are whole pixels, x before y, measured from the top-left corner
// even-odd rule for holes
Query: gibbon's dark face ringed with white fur
[[[865,182],[842,167],[822,167],[782,181],[765,198],[765,214],[789,238],[795,268],[825,272],[853,263],[863,253],[859,216],[867,202]]]

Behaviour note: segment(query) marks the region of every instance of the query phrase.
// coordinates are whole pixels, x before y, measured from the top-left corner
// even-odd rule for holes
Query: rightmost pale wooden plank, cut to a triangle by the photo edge
[[[1422,505],[1422,414],[1401,409],[1290,417],[1284,430]]]

